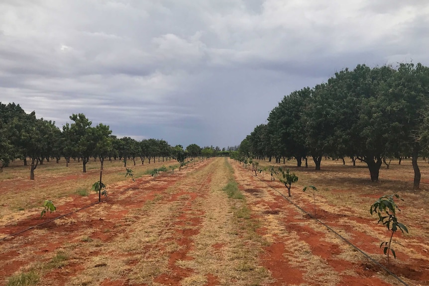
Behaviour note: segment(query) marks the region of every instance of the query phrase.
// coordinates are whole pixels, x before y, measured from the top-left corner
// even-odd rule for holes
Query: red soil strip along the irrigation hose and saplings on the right
[[[270,285],[402,285],[270,188],[274,186],[287,193],[280,183],[270,183],[267,178],[266,182],[260,181],[248,169],[235,162],[231,164],[240,190],[261,222],[259,233],[271,243],[261,256],[263,265],[276,280]],[[295,188],[293,199],[303,203],[305,209],[313,210],[308,200],[296,194],[302,187]],[[340,217],[335,211],[330,213],[331,209],[335,208],[326,210],[318,206],[322,220],[371,256],[384,261],[378,248],[382,236],[377,236],[378,226],[365,219],[353,220],[352,214]],[[405,262],[397,260],[391,269],[410,285],[427,285],[426,261],[404,253],[401,259]]]

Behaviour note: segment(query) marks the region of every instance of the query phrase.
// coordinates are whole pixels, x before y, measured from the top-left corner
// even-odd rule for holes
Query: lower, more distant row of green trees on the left
[[[181,145],[172,147],[165,140],[144,139],[137,141],[130,137],[117,138],[112,135],[108,125],[102,123],[92,126],[92,122],[82,113],[70,116],[72,123],[66,123],[62,130],[55,126],[55,122],[36,118],[35,112],[30,114],[19,104],[0,102],[0,170],[11,160],[21,159],[27,165],[30,159],[30,179],[34,179],[34,170],[39,164],[64,158],[68,166],[70,160],[82,160],[83,172],[90,158],[99,158],[101,170],[106,159],[132,160],[135,165],[137,159],[144,164],[151,160],[171,160],[172,158],[213,157],[216,148],[201,148],[191,144],[183,150]],[[220,149],[219,149],[220,151]]]

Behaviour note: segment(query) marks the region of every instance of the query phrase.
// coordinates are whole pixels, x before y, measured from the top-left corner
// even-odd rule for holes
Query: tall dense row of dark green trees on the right
[[[287,95],[240,144],[242,156],[312,157],[320,170],[323,156],[368,165],[377,182],[383,160],[412,157],[414,188],[420,186],[419,157],[428,156],[429,68],[400,64],[335,73],[327,83]]]

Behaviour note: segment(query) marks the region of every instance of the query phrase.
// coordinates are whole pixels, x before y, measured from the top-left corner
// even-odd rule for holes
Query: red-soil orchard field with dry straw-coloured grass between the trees
[[[177,167],[156,178],[146,174],[177,162],[136,163],[128,161],[135,183],[125,178],[122,163],[105,163],[108,196],[96,204],[98,194],[90,189],[99,180],[99,162],[88,163],[86,174],[78,162],[69,168],[64,160],[45,162],[35,181],[28,180],[22,162],[5,168],[0,285],[429,285],[428,162],[419,162],[420,191],[412,190],[408,160],[382,166],[379,183],[370,182],[363,163],[343,166],[328,159],[314,171],[310,160],[308,169],[286,162],[299,177],[289,200],[281,195],[287,195],[284,185],[271,182],[269,173],[255,176],[227,158]],[[260,162],[272,165],[285,167]],[[314,197],[302,191],[307,185],[319,189],[317,219],[294,205],[314,216]],[[398,217],[410,233],[395,234],[397,258],[388,264],[379,246],[390,232],[371,217],[369,207],[391,193],[404,199],[398,201]],[[40,218],[45,199],[57,211]]]

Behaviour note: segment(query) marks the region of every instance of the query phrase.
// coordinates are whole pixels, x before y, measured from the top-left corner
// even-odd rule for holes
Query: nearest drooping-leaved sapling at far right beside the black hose
[[[381,196],[371,205],[371,208],[369,210],[371,215],[373,213],[378,214],[379,219],[377,223],[381,222],[383,225],[387,227],[388,230],[392,231],[390,240],[388,242],[384,241],[380,244],[380,248],[384,246],[383,252],[385,255],[387,255],[388,262],[389,262],[390,252],[392,252],[393,257],[396,259],[396,253],[393,249],[391,249],[392,237],[395,234],[395,232],[398,229],[400,229],[402,233],[404,233],[404,231],[408,233],[408,228],[404,224],[398,222],[398,218],[396,217],[396,210],[399,210],[399,211],[401,210],[399,209],[398,205],[394,201],[394,197],[399,198],[399,195],[391,194],[391,195]],[[401,200],[403,199],[401,198]]]

